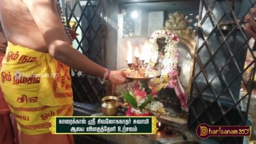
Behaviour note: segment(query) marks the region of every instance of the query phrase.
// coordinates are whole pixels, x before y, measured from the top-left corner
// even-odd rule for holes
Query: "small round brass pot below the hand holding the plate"
[[[102,98],[101,110],[106,116],[115,116],[118,113],[118,98],[116,96],[105,96]]]

